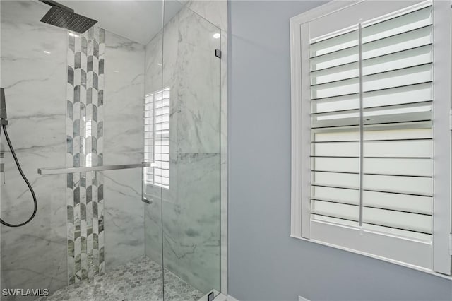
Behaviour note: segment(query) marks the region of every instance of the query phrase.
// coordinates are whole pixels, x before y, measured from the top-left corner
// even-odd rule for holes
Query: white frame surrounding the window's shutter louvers
[[[292,197],[290,236],[344,249],[452,280],[451,276],[451,2],[432,1],[434,14],[433,243],[359,228],[311,223],[309,23],[371,0],[331,1],[290,19]],[[422,1],[405,1],[404,7]],[[340,26],[340,25],[338,25]],[[340,30],[341,28],[337,28]],[[306,37],[306,38],[302,38]],[[441,37],[440,39],[438,37]],[[444,100],[444,101],[441,101]],[[435,201],[436,200],[436,201]],[[440,200],[440,201],[438,201]],[[441,201],[443,200],[443,201]],[[311,239],[311,233],[322,240]],[[391,245],[391,248],[381,246]]]

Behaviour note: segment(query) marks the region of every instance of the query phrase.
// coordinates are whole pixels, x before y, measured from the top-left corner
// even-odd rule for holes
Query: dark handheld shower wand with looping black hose
[[[9,149],[11,150],[11,154],[13,155],[14,161],[16,162],[16,166],[20,172],[20,175],[22,176],[23,180],[25,181],[25,183],[28,186],[28,189],[30,189],[32,198],[33,198],[33,203],[35,208],[33,209],[33,213],[30,216],[30,218],[28,218],[28,220],[25,220],[25,222],[20,223],[20,224],[10,224],[10,223],[6,223],[4,220],[2,220],[0,218],[0,223],[1,225],[6,225],[8,227],[20,227],[23,225],[26,225],[28,223],[30,223],[30,221],[35,218],[36,215],[36,211],[37,211],[37,201],[36,201],[36,195],[35,195],[35,191],[33,191],[33,188],[31,187],[30,182],[28,182],[27,177],[25,177],[25,174],[22,171],[22,168],[20,167],[19,164],[19,160],[16,156],[16,152],[14,151],[13,145],[11,144],[11,140],[9,140],[9,136],[8,136],[8,131],[6,131],[6,125],[8,125],[8,117],[6,116],[6,100],[5,100],[5,89],[4,88],[0,88],[0,134],[1,134],[1,129],[3,129],[3,131],[5,132],[5,138],[6,138],[6,142],[8,142],[8,146]]]

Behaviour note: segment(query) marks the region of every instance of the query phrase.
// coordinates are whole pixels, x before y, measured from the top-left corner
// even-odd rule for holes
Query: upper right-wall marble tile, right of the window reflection
[[[209,50],[186,42],[178,45],[179,153],[220,152],[220,59],[214,55],[215,44]]]

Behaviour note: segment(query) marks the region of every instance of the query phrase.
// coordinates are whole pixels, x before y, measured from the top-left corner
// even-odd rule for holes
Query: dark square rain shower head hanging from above
[[[41,0],[40,0],[41,1]],[[74,13],[73,9],[61,5],[55,1],[41,1],[52,6],[49,11],[42,17],[41,22],[66,28],[76,33],[85,33],[97,23],[97,20]]]

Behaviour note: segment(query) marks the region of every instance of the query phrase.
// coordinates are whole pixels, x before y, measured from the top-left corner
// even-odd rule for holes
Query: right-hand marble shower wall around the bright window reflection
[[[149,188],[154,202],[145,205],[146,254],[161,260],[163,220],[165,268],[204,293],[220,290],[222,102],[220,59],[214,54],[222,45],[213,34],[225,26],[226,11],[226,1],[186,3],[165,20],[163,57],[161,34],[146,45],[145,92],[169,87],[171,95],[170,184],[162,189],[163,202],[160,188]]]

